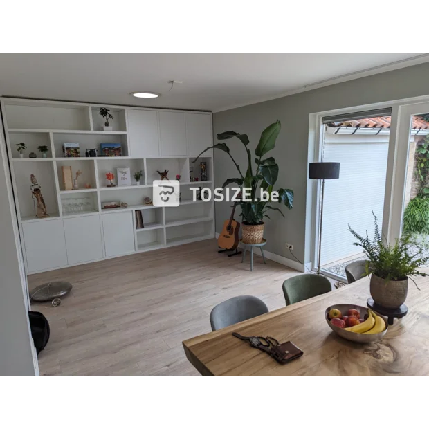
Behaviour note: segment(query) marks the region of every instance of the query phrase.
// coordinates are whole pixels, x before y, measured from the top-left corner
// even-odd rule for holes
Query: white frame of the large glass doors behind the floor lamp
[[[389,102],[363,104],[311,113],[309,116],[309,152],[307,162],[307,208],[305,232],[305,261],[306,265],[317,266],[318,236],[320,219],[320,181],[308,179],[308,164],[320,162],[323,150],[323,124],[322,118],[330,115],[354,113],[374,109],[392,109],[390,124],[389,149],[387,153],[387,171],[385,181],[385,198],[383,208],[383,221],[381,231],[389,242],[401,236],[403,201],[405,198],[406,169],[408,165],[408,147],[410,145],[410,125],[413,114],[422,113],[424,106],[429,106],[429,95],[405,98]],[[411,113],[410,113],[411,112]],[[413,113],[414,112],[414,113]],[[429,112],[429,109],[424,113]],[[408,116],[409,115],[409,116]],[[405,137],[404,137],[405,136]],[[407,144],[404,144],[404,141]],[[325,275],[336,280],[345,277],[323,271]]]

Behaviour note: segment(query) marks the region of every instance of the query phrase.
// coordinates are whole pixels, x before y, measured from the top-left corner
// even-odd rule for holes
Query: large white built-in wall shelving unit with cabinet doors
[[[27,273],[178,246],[215,236],[212,201],[192,201],[190,188],[213,187],[212,151],[206,152],[208,180],[201,181],[195,156],[212,143],[212,115],[206,112],[172,111],[108,106],[114,118],[112,131],[102,131],[101,105],[1,98],[6,144],[17,199],[17,214]],[[15,145],[26,143],[26,158]],[[63,143],[79,143],[80,158],[65,158]],[[86,149],[100,143],[120,143],[122,156],[86,158]],[[48,146],[46,158],[37,147]],[[28,158],[35,152],[37,158]],[[80,189],[64,190],[63,166],[77,170]],[[105,174],[129,167],[131,185],[107,187]],[[153,197],[157,170],[169,170],[170,179],[181,175],[181,204],[177,208],[146,205]],[[133,174],[143,172],[140,185]],[[193,170],[193,171],[192,171]],[[49,217],[37,219],[30,192],[35,174]],[[198,177],[199,181],[191,181]],[[117,184],[117,183],[116,183]],[[87,188],[90,187],[90,188]],[[69,199],[80,201],[70,203]],[[120,201],[127,207],[102,209],[102,203]],[[69,211],[70,205],[80,209]],[[136,228],[135,210],[142,210],[144,228]],[[46,237],[46,239],[45,239]]]

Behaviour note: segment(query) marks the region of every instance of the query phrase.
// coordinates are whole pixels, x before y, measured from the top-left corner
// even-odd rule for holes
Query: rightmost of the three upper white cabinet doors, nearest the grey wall
[[[213,145],[211,115],[186,113],[186,131],[188,156],[199,156],[204,149]],[[206,152],[206,156],[209,154]]]

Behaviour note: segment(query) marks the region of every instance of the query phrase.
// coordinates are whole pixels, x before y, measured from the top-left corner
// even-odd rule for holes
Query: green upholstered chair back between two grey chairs
[[[322,295],[332,290],[331,282],[326,277],[317,274],[295,275],[284,280],[283,293],[286,305],[295,304]]]

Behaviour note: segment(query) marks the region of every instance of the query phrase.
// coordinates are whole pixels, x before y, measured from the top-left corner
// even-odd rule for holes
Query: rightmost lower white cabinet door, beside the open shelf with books
[[[106,257],[124,255],[136,250],[133,215],[134,212],[102,215]]]

